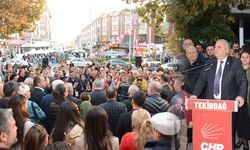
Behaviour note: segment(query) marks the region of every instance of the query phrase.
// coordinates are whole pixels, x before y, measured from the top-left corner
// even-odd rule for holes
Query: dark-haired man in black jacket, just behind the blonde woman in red
[[[132,113],[136,109],[142,109],[146,100],[146,94],[142,91],[136,91],[132,97],[132,107],[133,109],[129,112],[121,114],[116,125],[115,136],[121,141],[122,136],[127,132],[132,131]]]

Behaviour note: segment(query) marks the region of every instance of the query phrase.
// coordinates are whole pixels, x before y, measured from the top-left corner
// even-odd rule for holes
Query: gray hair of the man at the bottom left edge
[[[13,116],[12,109],[2,109],[0,108],[0,132],[8,133],[9,128],[9,119]]]

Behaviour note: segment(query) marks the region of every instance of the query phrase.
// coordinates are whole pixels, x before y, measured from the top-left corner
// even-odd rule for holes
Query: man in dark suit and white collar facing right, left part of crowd
[[[42,101],[42,97],[44,95],[46,95],[46,93],[44,92],[44,88],[46,86],[45,84],[45,79],[43,76],[39,75],[39,76],[35,76],[33,79],[33,84],[34,87],[30,93],[30,99],[31,101],[37,103],[37,105],[41,108],[41,101]]]

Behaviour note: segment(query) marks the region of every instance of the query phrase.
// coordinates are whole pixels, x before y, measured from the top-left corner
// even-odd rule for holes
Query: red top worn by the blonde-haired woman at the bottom
[[[135,144],[135,133],[128,132],[122,137],[120,150],[137,150]]]

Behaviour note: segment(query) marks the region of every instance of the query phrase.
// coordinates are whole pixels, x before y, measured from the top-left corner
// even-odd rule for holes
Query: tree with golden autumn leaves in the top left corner
[[[0,38],[34,30],[44,5],[45,0],[0,0]]]

